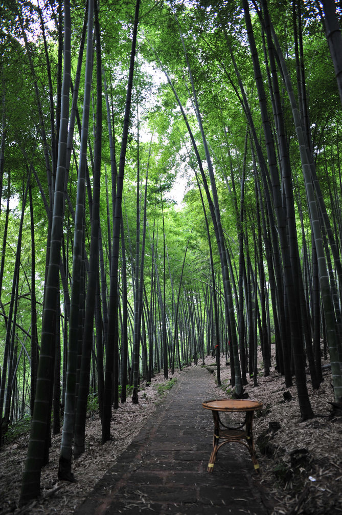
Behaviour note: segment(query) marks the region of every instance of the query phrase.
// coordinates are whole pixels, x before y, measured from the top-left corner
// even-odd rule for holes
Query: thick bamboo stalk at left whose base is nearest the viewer
[[[45,284],[45,304],[42,321],[41,352],[37,373],[37,390],[31,422],[25,471],[20,503],[25,504],[40,494],[40,474],[43,464],[46,427],[49,422],[49,399],[52,377],[52,356],[55,347],[57,290],[59,289],[60,251],[63,234],[64,178],[66,170],[66,140],[69,117],[70,90],[70,5],[64,1],[64,68],[62,84],[61,126],[58,143],[58,162],[55,184],[55,200],[51,228],[51,249]],[[58,307],[58,311],[57,311]]]

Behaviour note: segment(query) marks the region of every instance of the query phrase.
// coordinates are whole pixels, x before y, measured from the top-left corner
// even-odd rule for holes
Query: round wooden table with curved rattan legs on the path
[[[237,442],[244,445],[251,456],[254,468],[259,472],[259,464],[253,441],[254,411],[262,408],[262,403],[248,399],[223,399],[203,402],[205,409],[211,409],[214,419],[214,436],[212,439],[212,452],[208,463],[208,472],[212,472],[216,455],[220,447],[228,442]],[[237,427],[228,427],[220,419],[220,411],[225,413],[242,412],[245,414],[243,422]],[[221,440],[221,442],[220,442]]]

